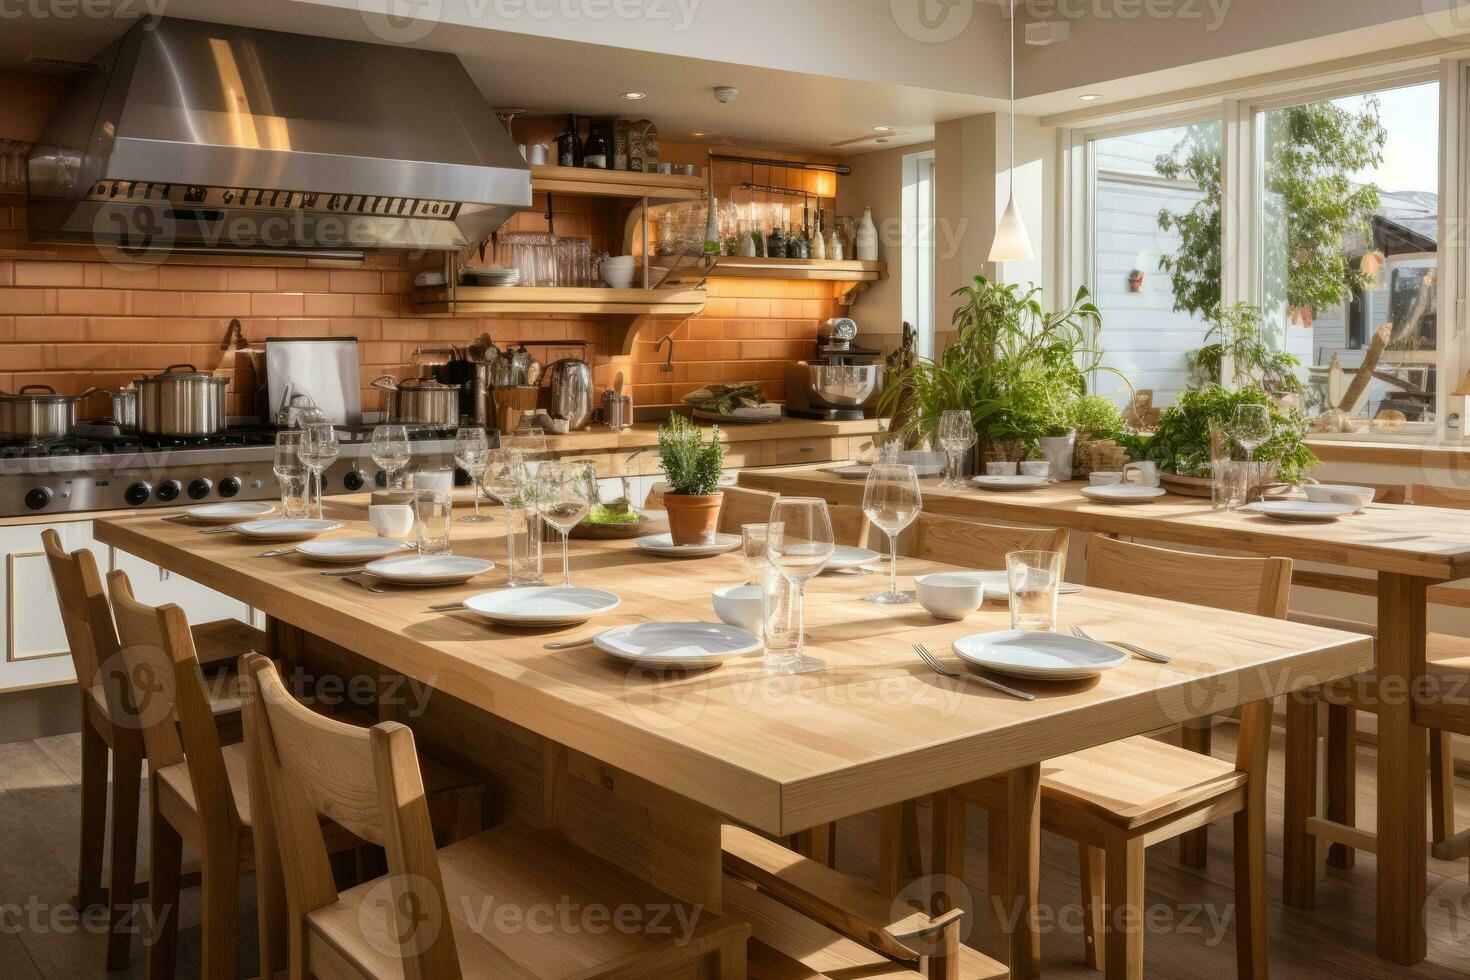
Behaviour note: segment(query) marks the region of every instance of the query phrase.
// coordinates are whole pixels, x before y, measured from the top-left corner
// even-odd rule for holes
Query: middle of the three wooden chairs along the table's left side
[[[150,921],[148,977],[172,977],[178,946],[182,845],[200,855],[201,976],[234,977],[240,874],[254,867],[247,755],[241,742],[222,743],[212,696],[240,704],[240,674],[210,682],[200,670],[193,633],[178,605],[140,602],[122,570],[107,576],[126,667],[131,717],[148,760]],[[459,829],[466,795],[482,795],[473,779],[432,767],[426,774],[434,827]],[[325,829],[328,851],[356,851],[362,840]]]

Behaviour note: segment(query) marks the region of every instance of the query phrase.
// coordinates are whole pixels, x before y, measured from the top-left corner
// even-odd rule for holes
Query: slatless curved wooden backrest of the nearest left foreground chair
[[[391,901],[370,911],[394,917],[385,934],[398,942],[406,980],[459,980],[413,732],[394,721],[360,729],[316,714],[259,654],[241,657],[240,673],[251,829],[257,861],[269,861],[284,882],[291,976],[310,976],[306,917],[337,901],[320,829],[328,817],[388,852]]]

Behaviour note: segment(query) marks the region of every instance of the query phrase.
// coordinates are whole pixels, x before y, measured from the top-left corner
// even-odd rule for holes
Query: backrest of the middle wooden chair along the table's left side
[[[121,569],[107,576],[107,588],[126,664],[131,717],[143,729],[148,771],[187,763],[206,846],[223,845],[240,814],[188,617],[173,604],[140,602]]]

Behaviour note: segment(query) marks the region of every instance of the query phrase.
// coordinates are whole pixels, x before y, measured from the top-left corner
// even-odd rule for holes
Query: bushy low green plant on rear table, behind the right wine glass
[[[1276,463],[1276,475],[1288,483],[1301,482],[1307,470],[1319,463],[1307,448],[1307,417],[1297,410],[1285,410],[1258,386],[1230,391],[1220,385],[1204,385],[1179,392],[1179,401],[1158,416],[1152,436],[1139,447],[1144,457],[1158,463],[1158,469],[1177,476],[1210,476],[1210,423],[1229,433],[1239,406],[1267,406],[1276,435],[1255,450],[1254,458]],[[1235,458],[1245,453],[1235,447]]]

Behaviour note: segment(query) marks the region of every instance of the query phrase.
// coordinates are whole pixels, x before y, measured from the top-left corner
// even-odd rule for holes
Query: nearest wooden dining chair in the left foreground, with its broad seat
[[[315,714],[291,698],[265,657],[244,657],[241,674],[250,695],[257,880],[272,892],[270,907],[287,909],[262,923],[262,976],[745,976],[745,923],[679,902],[554,832],[501,824],[435,849],[409,727],[363,729]],[[388,874],[338,892],[323,815],[384,846]],[[632,908],[648,918],[632,929],[548,932],[507,927],[497,915],[562,907]],[[662,923],[691,923],[688,932],[654,929],[654,909]]]

